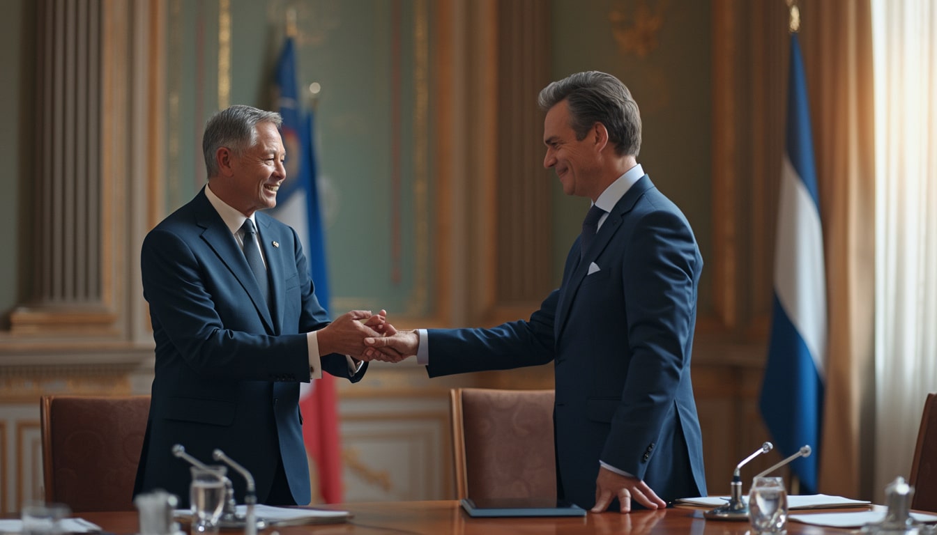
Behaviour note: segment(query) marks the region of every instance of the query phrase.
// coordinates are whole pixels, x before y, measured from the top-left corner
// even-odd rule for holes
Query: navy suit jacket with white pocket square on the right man
[[[429,375],[553,361],[561,498],[592,507],[600,460],[666,501],[706,496],[690,379],[703,260],[689,223],[645,175],[579,257],[577,239],[528,321],[430,330]]]

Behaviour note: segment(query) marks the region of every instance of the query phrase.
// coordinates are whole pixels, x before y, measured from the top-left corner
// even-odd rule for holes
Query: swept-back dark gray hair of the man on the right
[[[602,123],[618,156],[638,156],[641,150],[641,112],[624,83],[597,70],[579,72],[543,88],[538,97],[543,111],[566,100],[576,139]]]

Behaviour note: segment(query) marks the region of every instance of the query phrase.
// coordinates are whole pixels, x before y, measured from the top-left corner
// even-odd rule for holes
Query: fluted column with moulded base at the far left
[[[10,334],[121,339],[139,311],[135,271],[152,182],[139,158],[158,149],[158,2],[37,0],[36,137],[30,177],[31,269]],[[141,151],[142,149],[142,151]]]

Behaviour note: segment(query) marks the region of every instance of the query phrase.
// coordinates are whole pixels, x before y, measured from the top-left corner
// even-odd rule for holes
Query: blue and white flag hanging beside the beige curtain
[[[814,494],[824,403],[826,272],[807,81],[796,33],[791,36],[785,149],[774,308],[759,405],[781,455],[811,446],[811,456],[796,459],[791,470],[801,492]]]

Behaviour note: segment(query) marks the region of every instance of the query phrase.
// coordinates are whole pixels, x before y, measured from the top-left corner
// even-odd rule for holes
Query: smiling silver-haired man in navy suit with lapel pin
[[[330,322],[296,232],[260,212],[286,178],[280,124],[248,106],[217,112],[202,139],[208,185],[143,241],[156,370],[135,495],[162,488],[186,507],[178,443],[209,464],[216,448],[227,453],[254,476],[260,503],[308,504],[300,382],[322,370],[360,380],[367,364],[352,357],[383,330],[382,312]],[[229,475],[243,502],[243,478]]]

